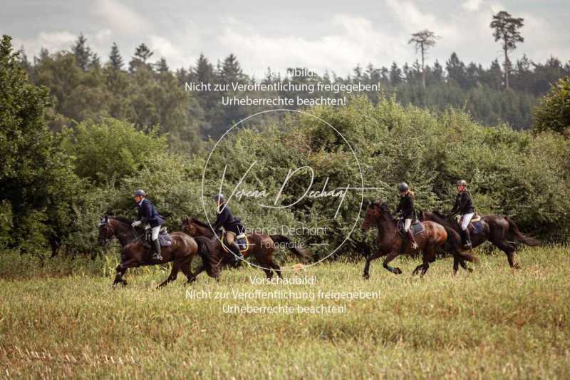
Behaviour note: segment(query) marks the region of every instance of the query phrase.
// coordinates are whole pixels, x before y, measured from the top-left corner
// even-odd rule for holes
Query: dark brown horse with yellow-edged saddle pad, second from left
[[[212,240],[217,240],[217,249],[219,250],[219,255],[221,256],[222,263],[227,264],[229,259],[224,259],[224,257],[231,257],[230,255],[224,255],[224,246],[220,238],[214,233],[212,227],[207,225],[206,223],[197,220],[196,218],[189,218],[184,217],[182,219],[182,231],[187,233],[192,237],[199,237],[204,236]],[[279,278],[283,278],[281,275],[281,267],[276,264],[273,260],[273,253],[275,252],[276,244],[284,244],[286,247],[291,250],[291,252],[299,257],[301,262],[306,263],[309,260],[309,254],[306,250],[302,248],[297,248],[294,244],[291,243],[289,237],[284,235],[265,235],[265,234],[257,234],[253,233],[247,235],[247,247],[244,251],[242,251],[244,255],[244,259],[247,257],[255,257],[259,266],[265,272],[265,275],[268,279],[273,277],[273,273],[275,272]],[[198,272],[201,272],[204,268],[198,269]]]

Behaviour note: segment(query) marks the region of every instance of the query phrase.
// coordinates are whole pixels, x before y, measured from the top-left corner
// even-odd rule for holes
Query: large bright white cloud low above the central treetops
[[[321,74],[335,70],[345,75],[356,63],[390,61],[387,57],[407,50],[401,41],[374,29],[372,22],[363,17],[333,16],[332,32],[316,38],[267,36],[232,18],[224,24],[218,43],[228,53],[239,53],[242,65],[252,69],[256,76],[261,76],[268,66],[272,71],[306,66]]]

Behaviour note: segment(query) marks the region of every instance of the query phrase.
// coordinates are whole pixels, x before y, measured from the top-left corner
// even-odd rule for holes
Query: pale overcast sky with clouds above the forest
[[[505,10],[524,18],[513,58],[526,53],[544,62],[570,60],[570,1],[372,0],[372,1],[6,1],[0,0],[0,33],[14,37],[28,57],[40,47],[68,49],[83,32],[105,61],[116,41],[125,61],[145,42],[153,60],[171,68],[191,66],[199,53],[213,63],[235,53],[246,73],[271,66],[306,66],[345,76],[360,63],[389,66],[413,62],[410,34],[430,29],[441,36],[427,60],[445,62],[455,51],[463,61],[489,66],[501,58],[489,22]]]

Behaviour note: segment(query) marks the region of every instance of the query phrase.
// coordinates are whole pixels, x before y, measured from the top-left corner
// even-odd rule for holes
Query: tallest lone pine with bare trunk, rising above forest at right
[[[493,15],[493,20],[489,25],[494,29],[494,41],[502,41],[504,51],[504,86],[509,88],[509,73],[511,71],[511,61],[509,61],[509,51],[517,48],[517,42],[524,42],[519,29],[524,26],[524,19],[514,18],[506,11],[499,11]]]

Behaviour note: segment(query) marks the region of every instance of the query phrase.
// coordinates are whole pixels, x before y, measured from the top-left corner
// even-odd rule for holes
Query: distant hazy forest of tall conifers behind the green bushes
[[[383,93],[366,93],[377,103],[383,96],[395,95],[398,102],[443,111],[452,106],[470,113],[484,125],[508,123],[514,129],[532,126],[537,98],[559,78],[570,75],[570,62],[550,57],[536,63],[523,56],[509,66],[509,88],[505,88],[504,67],[497,59],[485,68],[481,63],[465,63],[452,53],[445,63],[432,65],[394,62],[390,67],[356,66],[346,77],[336,73],[322,76],[279,76],[268,68],[264,78],[247,76],[237,56],[229,54],[212,63],[203,55],[188,68],[173,70],[165,58],[155,59],[141,43],[130,59],[123,58],[113,43],[103,60],[91,51],[81,35],[69,51],[50,53],[43,49],[29,61],[20,53],[22,66],[31,81],[46,86],[56,98],[51,127],[61,130],[73,121],[113,117],[128,120],[141,130],[160,125],[169,133],[172,150],[196,150],[207,136],[222,135],[233,123],[261,111],[261,107],[222,106],[222,96],[296,96],[305,98],[334,93],[227,93],[185,92],[185,83],[380,83]],[[425,86],[424,86],[425,83]]]

